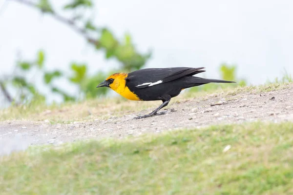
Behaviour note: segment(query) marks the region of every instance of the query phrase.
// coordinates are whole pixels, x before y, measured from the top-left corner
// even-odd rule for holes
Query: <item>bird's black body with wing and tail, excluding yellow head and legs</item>
[[[182,89],[207,84],[209,82],[230,82],[216,79],[192,77],[192,75],[205,72],[201,68],[146,68],[128,74],[126,86],[144,101],[163,100],[165,96],[171,98],[180,94]],[[141,85],[143,83],[162,83],[153,86]]]

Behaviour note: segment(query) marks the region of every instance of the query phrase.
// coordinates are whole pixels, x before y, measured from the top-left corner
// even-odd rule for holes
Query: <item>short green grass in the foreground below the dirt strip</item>
[[[0,158],[1,195],[282,195],[293,194],[292,184],[293,123],[34,147]]]

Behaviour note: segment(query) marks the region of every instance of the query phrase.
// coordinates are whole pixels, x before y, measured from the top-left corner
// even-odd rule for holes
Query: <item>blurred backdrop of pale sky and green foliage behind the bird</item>
[[[291,0],[0,0],[0,108],[105,96],[110,74],[149,67],[286,81],[292,20]]]

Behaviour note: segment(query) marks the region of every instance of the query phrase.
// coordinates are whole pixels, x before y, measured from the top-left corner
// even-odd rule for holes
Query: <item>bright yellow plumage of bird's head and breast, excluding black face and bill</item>
[[[125,78],[128,76],[127,73],[116,73],[114,75],[111,75],[111,78],[114,78],[114,82],[110,84],[110,88],[123,96],[124,98],[130,99],[130,100],[141,100],[138,98],[136,94],[131,92],[129,88],[126,86],[126,80]],[[109,78],[110,78],[109,77]]]

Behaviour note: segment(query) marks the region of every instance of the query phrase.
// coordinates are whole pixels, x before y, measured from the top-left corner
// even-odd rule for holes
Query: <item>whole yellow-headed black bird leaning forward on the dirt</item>
[[[136,101],[161,100],[163,103],[149,114],[135,119],[162,115],[158,111],[168,105],[171,98],[183,89],[207,83],[233,83],[234,81],[194,77],[205,72],[205,67],[145,68],[130,73],[115,73],[101,82],[98,87],[108,87],[124,98]]]

